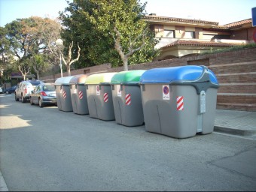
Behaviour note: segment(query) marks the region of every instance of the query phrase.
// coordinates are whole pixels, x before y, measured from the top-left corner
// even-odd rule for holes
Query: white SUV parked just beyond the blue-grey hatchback
[[[25,103],[30,98],[30,94],[35,89],[35,86],[38,86],[39,84],[44,83],[39,80],[26,80],[20,82],[20,84],[17,86],[17,89],[15,89],[15,101],[20,101]]]

